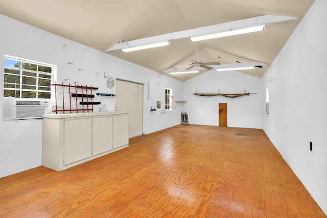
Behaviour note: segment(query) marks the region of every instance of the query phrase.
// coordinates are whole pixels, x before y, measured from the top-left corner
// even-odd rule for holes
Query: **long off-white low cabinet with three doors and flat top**
[[[57,171],[128,147],[128,112],[43,115],[42,165]]]

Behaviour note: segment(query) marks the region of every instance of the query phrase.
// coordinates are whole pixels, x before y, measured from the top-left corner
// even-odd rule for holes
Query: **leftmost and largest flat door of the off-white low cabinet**
[[[72,118],[64,120],[63,165],[89,158],[91,156],[92,120]]]

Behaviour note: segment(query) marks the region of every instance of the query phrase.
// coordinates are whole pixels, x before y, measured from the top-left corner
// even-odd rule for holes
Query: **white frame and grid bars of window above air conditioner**
[[[53,89],[52,89],[52,86],[50,86],[50,90],[39,90],[39,87],[41,87],[40,85],[38,85],[38,82],[39,82],[39,79],[48,79],[48,78],[43,78],[43,77],[39,77],[39,74],[45,74],[45,75],[50,75],[51,76],[51,84],[54,83],[54,80],[55,80],[55,77],[56,77],[56,73],[57,73],[57,66],[53,65],[53,64],[49,64],[49,63],[43,63],[43,62],[39,62],[39,61],[35,61],[35,60],[29,60],[29,59],[24,59],[24,58],[19,58],[19,57],[14,57],[14,56],[10,56],[10,55],[5,55],[5,59],[11,59],[11,60],[15,60],[15,61],[21,61],[21,62],[27,62],[27,63],[31,63],[31,64],[36,64],[37,66],[37,69],[36,71],[31,71],[31,70],[27,70],[27,69],[24,69],[22,68],[22,66],[20,66],[20,68],[17,68],[17,67],[4,67],[4,69],[9,69],[9,70],[17,70],[17,71],[20,71],[20,74],[8,74],[8,73],[5,73],[4,72],[4,75],[5,74],[8,74],[8,75],[15,75],[15,76],[20,76],[20,82],[17,83],[17,86],[19,86],[19,88],[7,88],[5,87],[5,80],[4,80],[4,95],[5,95],[5,91],[6,90],[16,90],[19,92],[19,96],[11,96],[11,97],[14,97],[14,98],[24,98],[22,97],[22,92],[23,91],[32,91],[32,92],[36,92],[36,96],[35,96],[35,99],[44,99],[44,98],[39,98],[38,97],[38,93],[39,92],[44,92],[44,93],[50,93],[50,99],[53,98]],[[52,72],[51,73],[46,73],[46,72],[42,72],[42,71],[38,71],[38,66],[44,66],[44,67],[49,67],[51,68]],[[22,72],[32,72],[32,73],[36,73],[36,84],[22,84],[22,77],[25,76],[25,77],[31,77],[31,76],[26,76],[26,75],[23,75]],[[8,84],[13,84],[13,83],[8,83]],[[23,89],[23,85],[30,85],[30,86],[35,86],[36,89],[35,90],[31,90],[31,89]],[[9,97],[9,96],[8,96]],[[48,99],[48,98],[46,98]]]

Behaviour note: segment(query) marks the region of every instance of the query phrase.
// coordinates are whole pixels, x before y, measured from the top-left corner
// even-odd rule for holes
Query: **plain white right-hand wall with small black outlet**
[[[313,3],[264,75],[262,89],[270,85],[267,136],[327,214],[326,10],[327,1]]]

